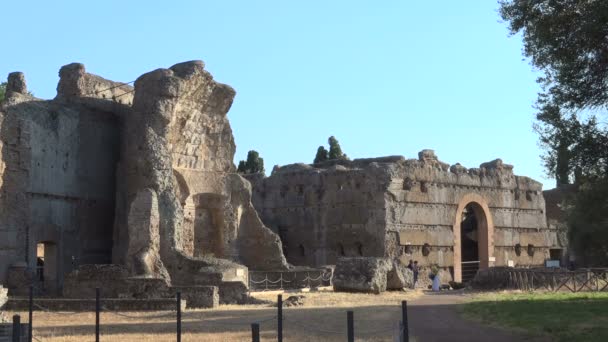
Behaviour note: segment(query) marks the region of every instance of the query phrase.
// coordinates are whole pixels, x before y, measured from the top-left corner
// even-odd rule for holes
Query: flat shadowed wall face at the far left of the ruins
[[[78,264],[111,261],[119,119],[88,102],[35,99],[23,74],[9,81],[0,131],[0,231],[12,247],[0,246],[11,254],[1,258],[0,279],[7,267],[33,273],[36,245],[45,243],[56,251],[45,261],[56,266],[43,286],[54,291]]]

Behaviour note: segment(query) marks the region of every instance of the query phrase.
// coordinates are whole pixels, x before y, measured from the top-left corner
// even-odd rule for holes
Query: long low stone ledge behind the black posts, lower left
[[[102,310],[112,311],[175,311],[175,298],[162,299],[101,299]],[[186,309],[186,301],[181,301],[182,310]],[[29,299],[10,298],[6,303],[7,311],[27,311]],[[95,311],[95,299],[48,299],[34,300],[35,311]]]

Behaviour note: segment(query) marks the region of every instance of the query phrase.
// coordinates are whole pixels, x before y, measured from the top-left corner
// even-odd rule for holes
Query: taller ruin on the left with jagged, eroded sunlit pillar
[[[226,118],[235,91],[202,62],[154,70],[133,87],[82,64],[59,75],[50,101],[31,97],[23,74],[9,75],[0,283],[78,296],[78,283],[113,279],[133,289],[217,286],[227,298],[246,291],[248,268],[289,268],[235,173]]]

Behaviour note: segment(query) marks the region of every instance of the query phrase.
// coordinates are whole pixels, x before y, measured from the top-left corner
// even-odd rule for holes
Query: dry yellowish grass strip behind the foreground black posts
[[[276,301],[277,292],[254,293],[258,299]],[[353,310],[357,341],[393,341],[401,318],[401,301],[418,292],[385,292],[380,295],[334,293],[284,293],[304,295],[304,305],[284,308],[284,341],[344,341],[346,311]],[[269,304],[222,305],[217,309],[187,310],[182,318],[182,341],[248,341],[251,323],[261,321],[262,340],[276,340],[276,308]],[[14,313],[10,313],[11,315]],[[19,314],[27,320],[27,313]],[[127,312],[132,318],[104,312],[102,340],[175,341],[175,312]],[[34,335],[43,342],[93,341],[95,314],[34,313]]]

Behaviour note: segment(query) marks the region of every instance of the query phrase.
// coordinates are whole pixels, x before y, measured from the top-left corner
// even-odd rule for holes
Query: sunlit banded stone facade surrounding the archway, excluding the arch
[[[512,260],[514,266],[539,265],[557,244],[555,234],[547,229],[542,184],[513,175],[513,167],[500,159],[480,168],[448,167],[425,150],[396,170],[387,192],[387,251],[404,261],[453,266],[454,224],[462,214],[457,210],[469,194],[481,197],[489,208],[493,264],[507,265]],[[423,250],[425,244],[428,248]],[[519,255],[517,244],[522,246]]]

